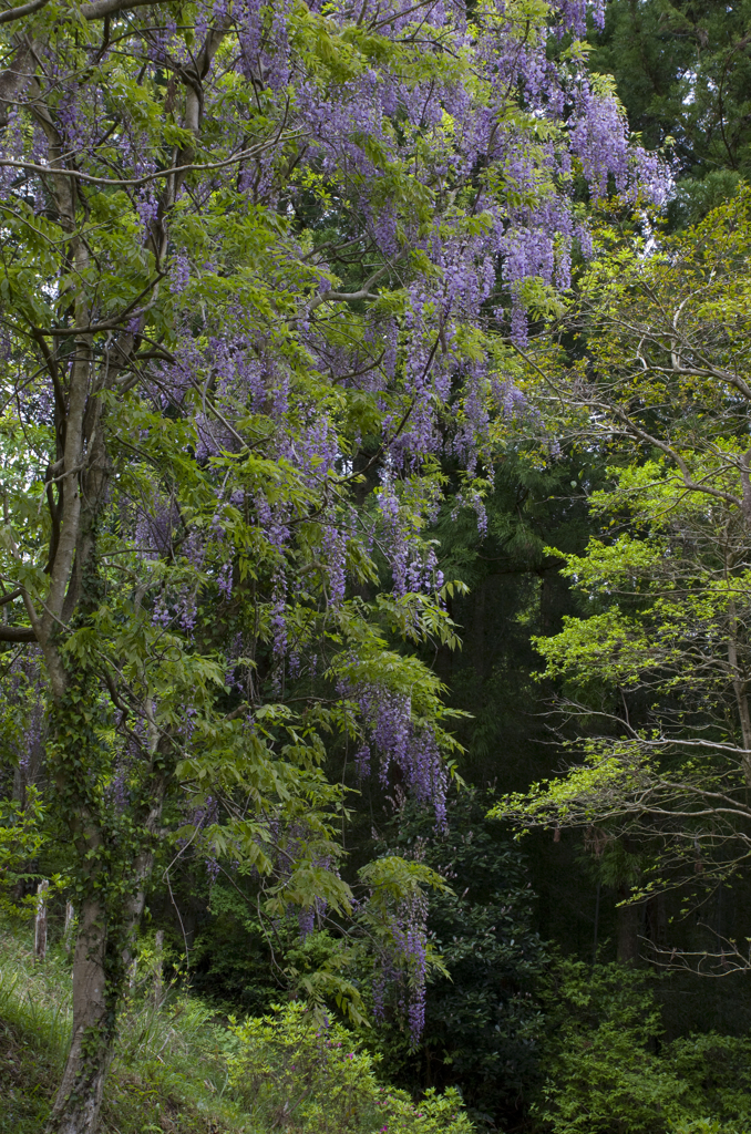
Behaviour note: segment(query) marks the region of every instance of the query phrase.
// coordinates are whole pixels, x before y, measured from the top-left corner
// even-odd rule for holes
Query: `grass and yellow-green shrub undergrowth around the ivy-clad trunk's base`
[[[145,950],[125,1005],[100,1134],[472,1134],[459,1094],[415,1101],[383,1084],[378,1056],[303,1004],[217,1021]],[[0,924],[0,1132],[41,1134],[70,1041],[70,962],[34,964]]]

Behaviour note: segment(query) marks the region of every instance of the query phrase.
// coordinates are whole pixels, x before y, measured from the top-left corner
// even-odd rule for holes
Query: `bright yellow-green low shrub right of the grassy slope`
[[[376,1077],[378,1056],[339,1024],[323,1026],[304,1005],[233,1025],[229,1080],[259,1128],[299,1134],[471,1134],[457,1091],[414,1103]]]

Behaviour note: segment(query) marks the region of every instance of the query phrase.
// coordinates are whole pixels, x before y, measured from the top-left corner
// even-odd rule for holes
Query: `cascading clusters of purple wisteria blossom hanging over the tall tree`
[[[109,322],[118,304],[129,312],[127,330],[159,347],[142,352],[138,384],[123,387],[123,405],[132,398],[149,424],[137,426],[135,438],[128,438],[127,429],[118,435],[134,454],[141,446],[155,455],[144,462],[153,480],[140,473],[134,484],[143,488],[132,485],[115,497],[123,542],[135,552],[145,579],[145,591],[137,578],[133,593],[152,641],[169,644],[174,635],[189,654],[200,646],[199,617],[201,625],[210,620],[206,610],[228,623],[236,610],[244,617],[237,592],[252,564],[258,620],[255,628],[252,619],[238,621],[239,632],[227,648],[228,685],[241,668],[244,635],[252,649],[252,635],[268,644],[267,669],[277,692],[285,672],[303,672],[306,658],[311,679],[330,665],[337,633],[349,615],[348,565],[357,561],[358,552],[382,553],[397,599],[436,596],[444,578],[424,533],[441,505],[441,490],[431,492],[422,471],[427,460],[445,456],[461,464],[462,490],[454,502],[473,509],[484,534],[483,469],[493,423],[499,416],[530,413],[512,380],[496,373],[498,355],[487,348],[487,336],[500,333],[523,347],[530,335],[526,303],[532,285],[565,290],[574,243],[584,255],[591,254],[590,234],[573,204],[574,175],[583,174],[594,198],[610,186],[631,201],[647,193],[660,202],[667,192],[665,168],[656,155],[631,145],[615,98],[583,68],[577,71],[574,60],[560,65],[547,57],[543,33],[554,28],[583,35],[588,15],[601,26],[604,0],[556,0],[545,16],[548,24],[532,28],[532,34],[515,23],[513,6],[499,0],[489,11],[491,18],[470,27],[467,6],[456,0],[429,0],[419,10],[412,0],[382,0],[371,9],[365,5],[365,26],[368,18],[377,17],[379,36],[399,45],[399,66],[388,51],[362,56],[332,82],[322,59],[311,66],[298,48],[294,0],[199,0],[180,14],[180,22],[193,18],[191,28],[178,26],[168,7],[157,6],[147,20],[124,22],[112,36],[117,51],[126,58],[130,51],[143,68],[143,105],[141,95],[130,91],[125,96],[121,84],[111,82],[117,68],[121,70],[113,43],[102,41],[99,52],[100,44],[82,40],[65,59],[56,53],[56,36],[42,37],[35,49],[54,136],[65,151],[61,160],[75,162],[83,178],[75,223],[85,221],[84,204],[94,200],[102,180],[117,174],[125,186],[121,196],[109,197],[124,202],[125,225],[118,229],[118,218],[110,220],[107,210],[99,210],[87,228],[95,248],[92,265],[102,264],[102,279],[117,279],[121,288],[104,294],[91,268],[86,303],[92,324],[103,321],[106,332],[94,332],[91,339],[99,352],[98,373],[103,370],[99,359],[110,357],[108,352],[115,359],[108,380],[121,365],[112,353],[120,337],[108,331],[121,325],[118,319]],[[324,15],[322,34],[351,32],[351,6],[311,0],[305,19],[311,12]],[[311,27],[315,24],[311,17]],[[172,95],[166,94],[166,121],[155,121],[149,92],[163,91],[166,76],[182,91],[179,76],[194,69],[206,36],[219,26],[225,45],[201,74],[196,168],[175,203],[164,192],[169,177],[162,176],[163,163],[171,161],[172,145],[177,153],[183,143],[175,143],[166,126],[182,120],[182,110],[177,102],[169,105]],[[445,58],[456,67],[452,62],[444,75],[438,64],[424,71],[411,68],[405,44],[415,29],[428,45],[425,58],[432,58],[432,39],[440,45],[433,62]],[[67,34],[61,33],[64,39]],[[71,67],[74,57],[85,60],[86,52],[96,64]],[[455,76],[470,56],[472,78],[462,82]],[[93,77],[86,77],[88,73]],[[100,75],[109,79],[102,82]],[[171,84],[168,79],[167,91]],[[0,167],[9,217],[20,215],[19,203],[45,213],[53,196],[49,178],[18,168],[29,159],[39,164],[50,158],[50,142],[32,109],[24,93],[18,105],[9,105],[8,124],[0,130],[0,152],[15,163]],[[279,132],[273,144],[248,144],[269,137],[275,124]],[[237,160],[225,162],[228,154]],[[203,170],[197,168],[202,164]],[[400,179],[399,192],[394,192],[395,179]],[[471,185],[478,189],[470,194]],[[334,202],[331,213],[338,212],[341,231],[347,228],[346,254],[306,243],[304,218],[312,186],[321,202],[327,196]],[[107,195],[104,191],[102,198]],[[469,195],[471,209],[463,204]],[[111,231],[101,239],[100,228],[110,223]],[[123,264],[113,251],[120,247],[127,253]],[[388,266],[353,310],[339,303],[341,297],[324,298],[339,287],[338,272],[346,277],[341,287],[352,286],[349,255],[363,264]],[[134,308],[142,266],[151,272],[152,264],[168,271],[162,290],[152,289]],[[34,270],[44,271],[40,264]],[[40,303],[51,302],[60,277],[52,272],[47,281],[39,278]],[[12,332],[0,333],[8,371],[32,373],[25,361],[31,357],[28,344],[19,352],[9,337]],[[23,355],[20,367],[15,354]],[[60,366],[68,364],[67,357],[64,352]],[[125,371],[118,374],[128,379]],[[18,390],[18,405],[22,417],[35,426],[56,425],[54,391],[49,387]],[[162,424],[183,430],[186,451],[180,458],[191,464],[193,483],[201,482],[200,490],[184,491],[186,499],[179,499],[185,486],[172,489],[169,468],[161,467]],[[347,463],[353,472],[362,468],[363,455],[368,475],[380,469],[381,481],[370,492],[369,507],[358,507],[354,524],[348,510],[356,499],[348,496],[354,476],[348,469],[343,475],[343,469]],[[417,491],[411,496],[415,483]],[[363,491],[370,486],[366,479]],[[140,491],[143,498],[128,494]],[[125,559],[123,567],[130,570]],[[209,607],[217,594],[223,603],[233,600],[231,606]],[[404,609],[411,609],[410,601]],[[303,604],[315,625],[301,641]],[[327,633],[332,627],[326,644],[313,636],[323,619]],[[23,670],[26,662],[28,672]],[[17,723],[11,743],[22,769],[44,734],[39,658],[29,651],[26,662],[14,662],[5,693]],[[262,684],[263,675],[259,680]],[[326,674],[320,678],[324,680]],[[433,806],[440,827],[447,775],[440,733],[423,718],[411,692],[394,682],[389,687],[363,680],[339,691],[340,699],[357,705],[356,775],[364,779],[378,772],[387,784],[398,770],[405,788]],[[39,694],[36,704],[29,703],[29,689]],[[189,744],[199,717],[191,697],[184,702],[176,734]],[[119,762],[113,759],[98,780],[98,790],[117,811],[129,805],[132,761],[146,745],[143,729],[138,731],[142,723],[124,742]],[[120,720],[118,727],[123,725]],[[246,727],[252,729],[252,721]],[[216,816],[209,798],[193,821],[205,833]],[[276,847],[277,881],[288,877],[290,860],[331,869],[311,848],[314,839],[304,822],[288,828],[278,816],[264,822]],[[209,857],[210,880],[218,870]],[[298,913],[303,937],[323,913],[321,899]],[[399,959],[381,959],[373,987],[381,1012],[385,987],[397,974],[414,1042],[424,1015],[424,923],[422,896],[405,899],[394,911],[391,936]]]

